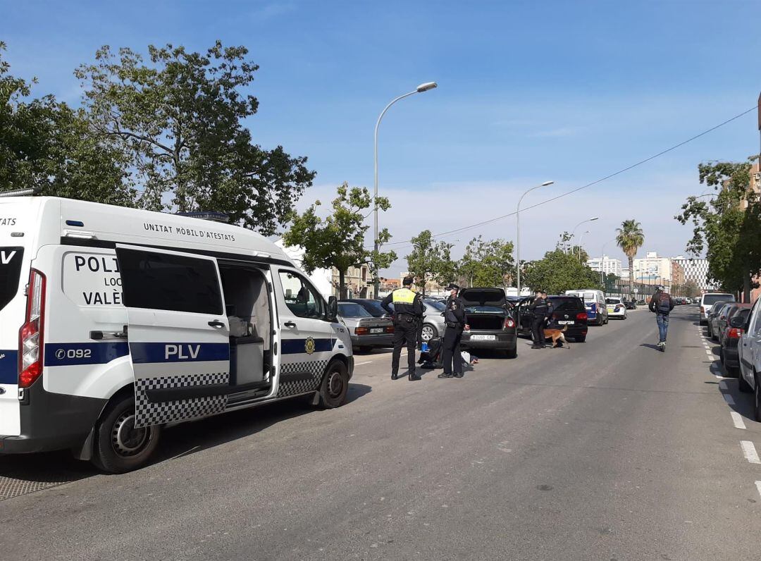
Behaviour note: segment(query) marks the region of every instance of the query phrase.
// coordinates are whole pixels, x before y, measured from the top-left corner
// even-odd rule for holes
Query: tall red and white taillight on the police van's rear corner
[[[18,387],[30,387],[43,373],[45,276],[32,269],[27,291],[27,317],[18,332]]]

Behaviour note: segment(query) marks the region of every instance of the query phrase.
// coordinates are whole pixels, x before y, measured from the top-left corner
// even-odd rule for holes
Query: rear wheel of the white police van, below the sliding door
[[[126,473],[144,466],[158,446],[161,427],[134,427],[134,396],[107,406],[95,426],[93,463],[109,473]]]

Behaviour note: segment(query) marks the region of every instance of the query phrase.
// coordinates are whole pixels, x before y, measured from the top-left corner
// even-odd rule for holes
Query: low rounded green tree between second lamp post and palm
[[[527,263],[524,275],[527,286],[551,294],[578,288],[602,288],[600,273],[560,249],[548,251],[543,259]]]

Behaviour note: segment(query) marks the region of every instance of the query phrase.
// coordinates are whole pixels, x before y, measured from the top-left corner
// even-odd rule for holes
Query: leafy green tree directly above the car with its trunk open
[[[515,275],[513,243],[502,239],[485,241],[481,236],[468,242],[458,263],[463,284],[469,286],[508,286]]]

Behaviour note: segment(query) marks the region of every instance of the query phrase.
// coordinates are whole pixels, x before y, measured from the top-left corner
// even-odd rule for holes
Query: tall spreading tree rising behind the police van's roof
[[[254,144],[244,126],[259,106],[242,91],[259,68],[247,53],[219,41],[205,53],[151,45],[146,64],[103,46],[77,69],[94,133],[129,155],[145,186],[140,206],[217,210],[270,235],[312,184],[307,158]]]

